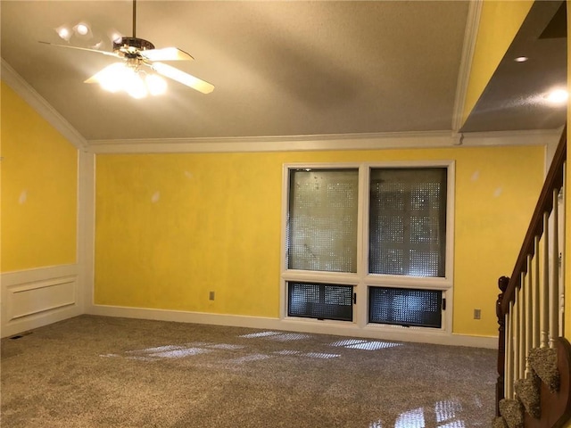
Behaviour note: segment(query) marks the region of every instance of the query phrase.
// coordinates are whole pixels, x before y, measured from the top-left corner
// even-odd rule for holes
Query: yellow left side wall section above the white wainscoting
[[[75,263],[78,151],[2,82],[2,272]]]

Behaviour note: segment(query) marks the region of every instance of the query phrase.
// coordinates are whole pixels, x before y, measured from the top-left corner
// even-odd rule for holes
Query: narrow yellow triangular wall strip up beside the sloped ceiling
[[[533,0],[484,0],[478,25],[474,57],[468,79],[462,124],[484,92],[517,30],[534,4]]]

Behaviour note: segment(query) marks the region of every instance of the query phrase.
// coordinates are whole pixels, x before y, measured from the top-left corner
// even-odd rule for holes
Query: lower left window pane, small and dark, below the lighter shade
[[[352,321],[352,285],[288,283],[288,317]]]

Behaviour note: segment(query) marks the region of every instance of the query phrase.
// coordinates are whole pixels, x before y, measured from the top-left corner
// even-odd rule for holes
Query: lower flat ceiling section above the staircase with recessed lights
[[[515,62],[519,56],[529,58]],[[567,86],[565,2],[536,2],[462,131],[552,129],[567,119],[566,106],[545,94]]]

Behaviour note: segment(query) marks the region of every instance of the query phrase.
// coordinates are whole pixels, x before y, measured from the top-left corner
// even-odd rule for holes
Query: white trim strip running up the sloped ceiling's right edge
[[[462,128],[462,118],[464,116],[464,103],[466,103],[466,93],[468,92],[468,81],[474,60],[476,49],[476,37],[480,25],[480,15],[482,13],[482,0],[470,2],[468,8],[468,19],[466,21],[466,31],[464,33],[464,44],[462,45],[462,57],[456,82],[456,97],[454,98],[454,111],[452,111],[452,129],[458,131]]]

